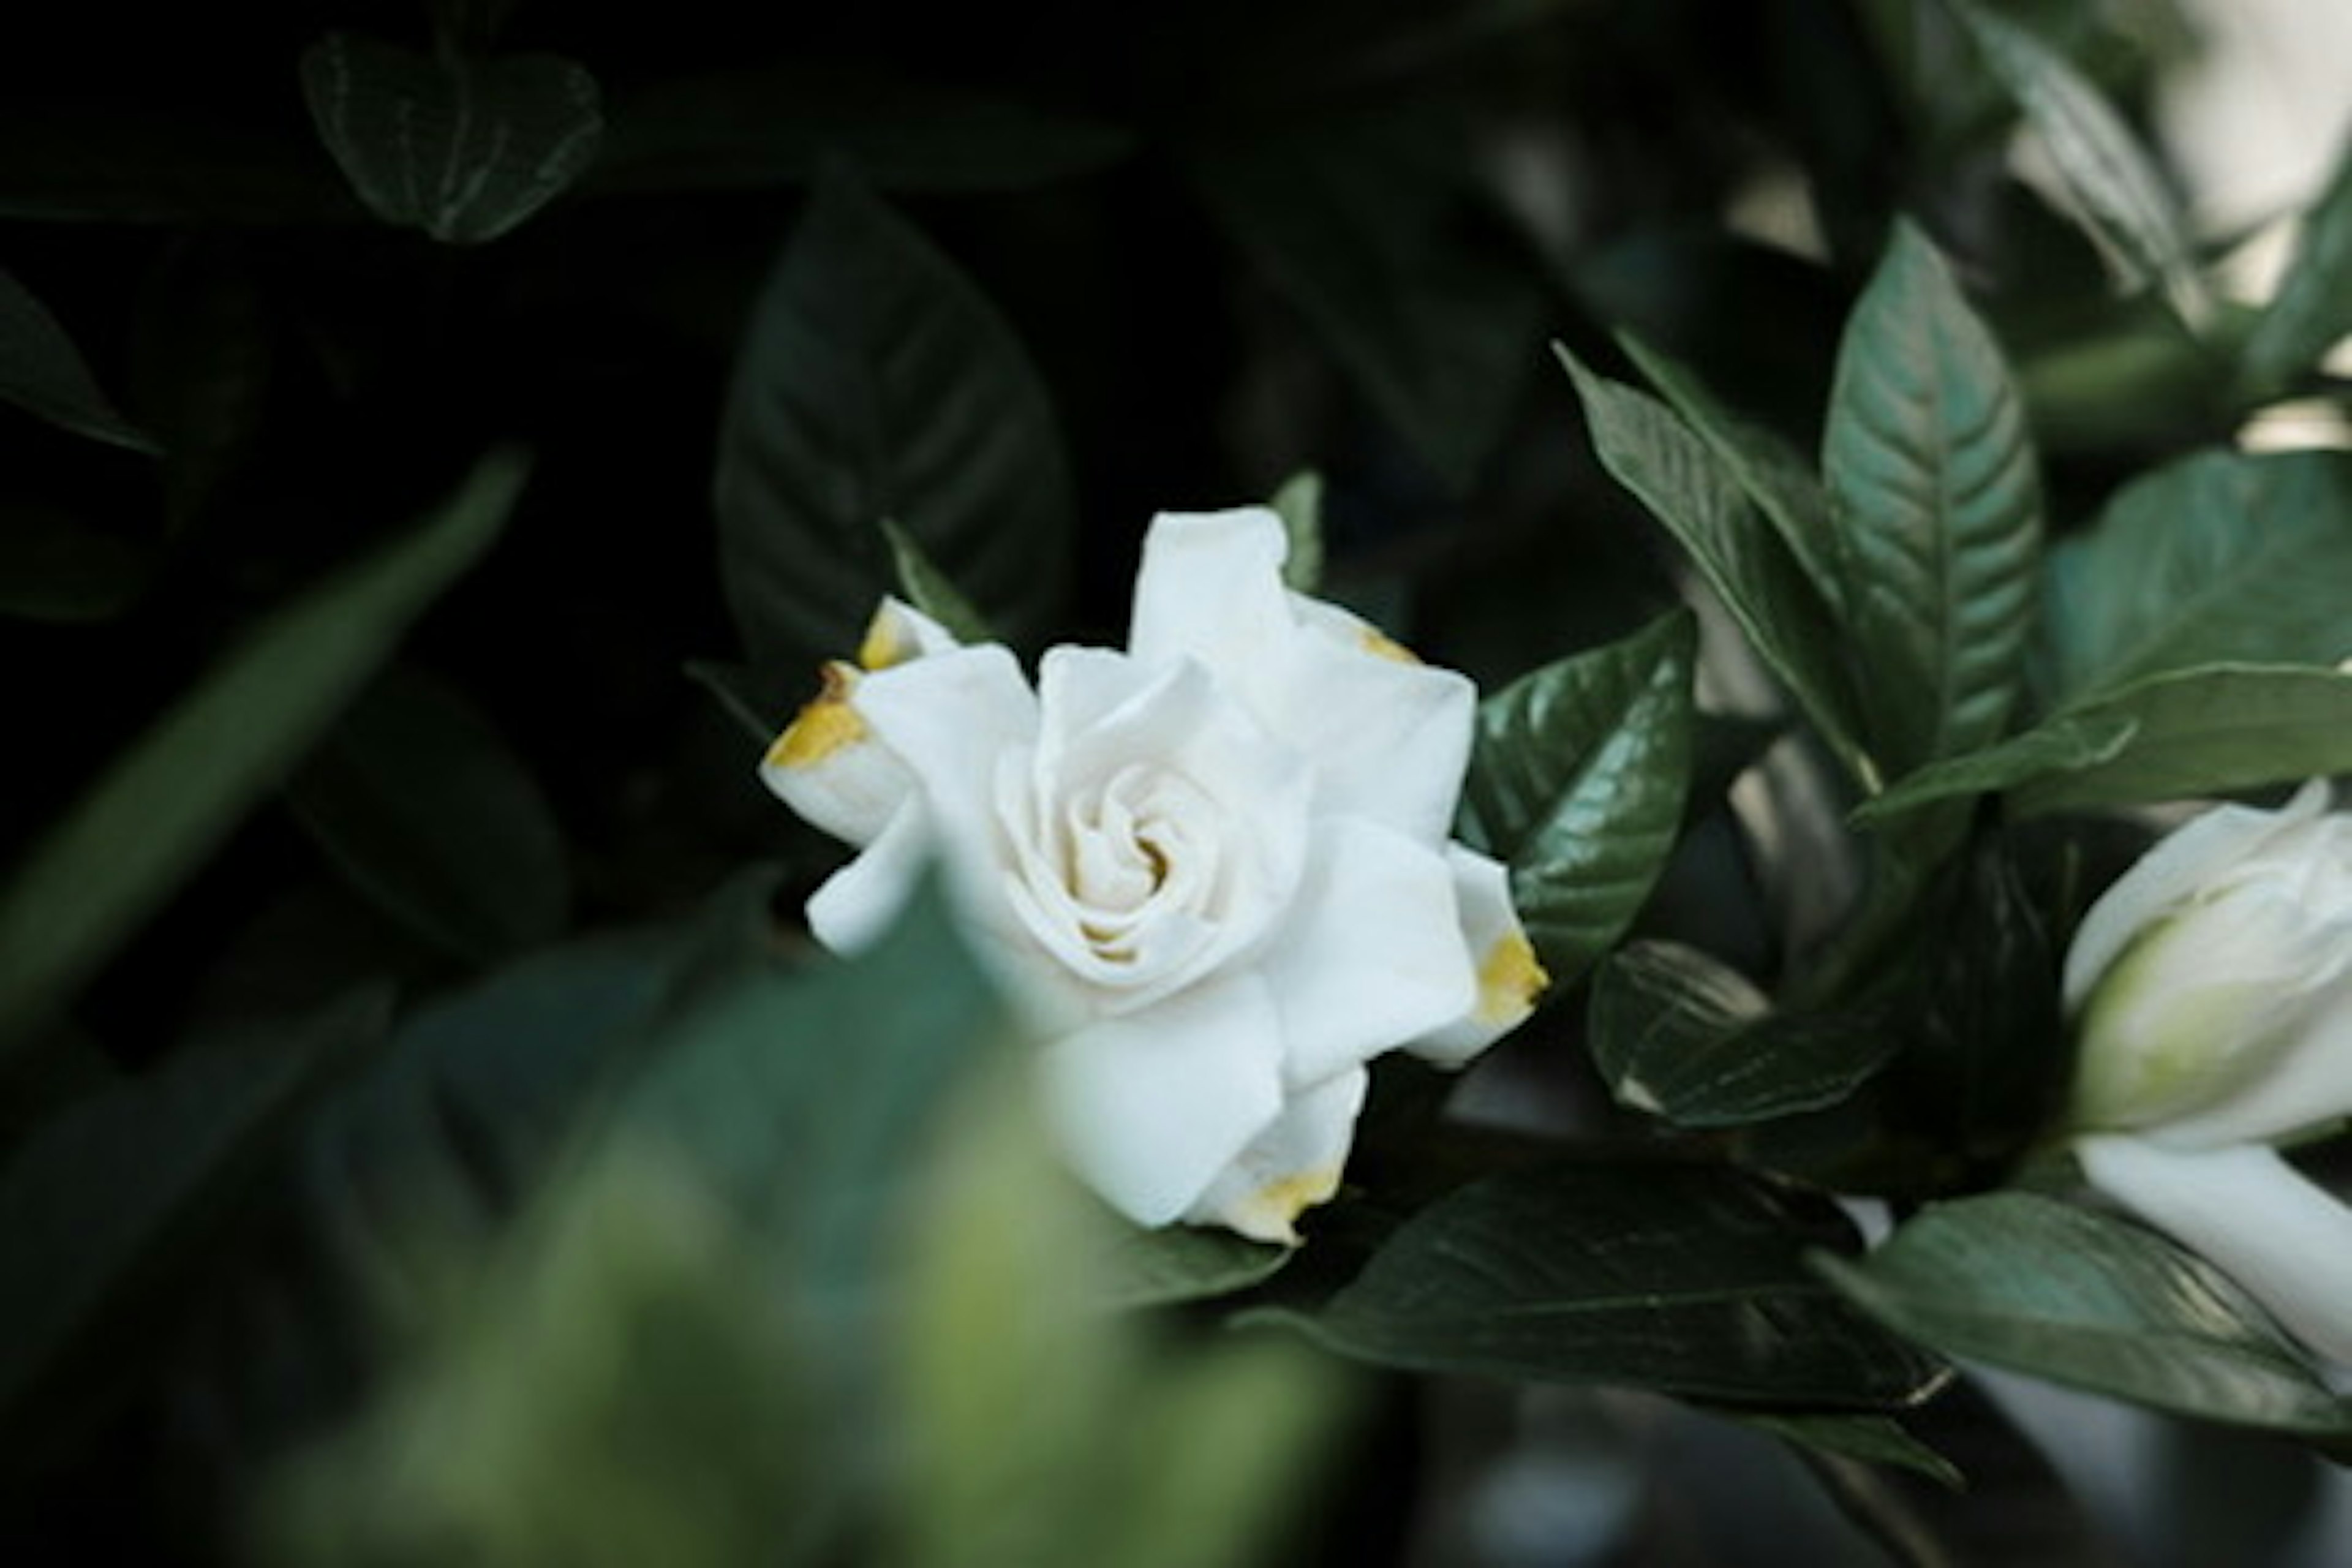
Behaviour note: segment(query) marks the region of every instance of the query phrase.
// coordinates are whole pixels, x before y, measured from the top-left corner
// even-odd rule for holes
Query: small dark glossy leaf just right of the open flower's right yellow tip
[[[1588,1041],[1609,1093],[1675,1126],[1835,1105],[1898,1044],[1870,1020],[1773,1018],[1745,976],[1679,943],[1609,957],[1592,980]]]

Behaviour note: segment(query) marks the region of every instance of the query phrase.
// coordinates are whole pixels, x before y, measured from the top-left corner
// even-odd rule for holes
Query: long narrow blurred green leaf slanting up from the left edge
[[[494,451],[414,531],[261,621],[35,844],[0,889],[0,1065],[489,548],[524,470]]]

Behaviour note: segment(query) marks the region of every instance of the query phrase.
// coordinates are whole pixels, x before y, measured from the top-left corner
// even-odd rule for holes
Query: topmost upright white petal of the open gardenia
[[[1284,555],[1282,517],[1263,505],[1160,512],[1143,536],[1127,651],[1145,663],[1190,656],[1218,675],[1265,668],[1296,635]]]

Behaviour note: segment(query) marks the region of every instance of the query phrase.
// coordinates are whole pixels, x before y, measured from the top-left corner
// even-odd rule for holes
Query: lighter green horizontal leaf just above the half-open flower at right
[[[2105,762],[2023,783],[2013,795],[2018,811],[2230,795],[2352,771],[2352,675],[2336,670],[2176,670],[2103,696],[2074,717],[2117,717],[2133,731]]]

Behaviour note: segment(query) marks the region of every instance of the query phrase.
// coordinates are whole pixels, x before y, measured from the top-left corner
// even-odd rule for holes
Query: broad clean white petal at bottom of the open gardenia
[[[1279,1063],[1263,983],[1235,976],[1047,1046],[1047,1110],[1112,1208],[1167,1225],[1279,1114]]]

